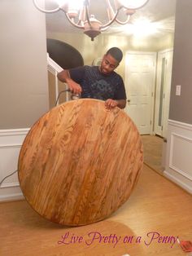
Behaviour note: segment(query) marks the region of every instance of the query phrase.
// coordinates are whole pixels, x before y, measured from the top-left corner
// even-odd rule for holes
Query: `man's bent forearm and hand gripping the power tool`
[[[70,77],[70,73],[68,70],[63,69],[63,71],[59,72],[57,75],[59,81],[66,82],[68,84],[69,89],[75,94],[81,94],[82,88],[80,84],[72,80]]]

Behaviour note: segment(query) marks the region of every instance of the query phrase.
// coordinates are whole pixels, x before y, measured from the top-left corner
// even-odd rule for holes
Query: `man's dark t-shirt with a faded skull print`
[[[83,66],[69,70],[72,80],[82,88],[82,98],[126,99],[123,79],[116,72],[104,75],[98,66]]]

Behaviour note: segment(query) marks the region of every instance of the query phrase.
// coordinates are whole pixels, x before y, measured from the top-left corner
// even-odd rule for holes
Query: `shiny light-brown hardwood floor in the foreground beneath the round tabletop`
[[[91,225],[63,227],[42,218],[26,201],[1,203],[0,255],[190,255],[176,239],[192,241],[191,213],[192,196],[144,165],[129,200]]]

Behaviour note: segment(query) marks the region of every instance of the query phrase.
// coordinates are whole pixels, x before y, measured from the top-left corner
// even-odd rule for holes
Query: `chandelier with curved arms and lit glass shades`
[[[96,2],[97,0],[93,0]],[[146,5],[149,0],[103,0],[105,2],[107,22],[103,24],[95,18],[94,14],[89,14],[91,0],[55,0],[57,7],[46,10],[39,6],[37,0],[33,0],[35,7],[45,13],[63,11],[68,21],[78,29],[83,29],[84,33],[94,41],[98,34],[102,33],[116,21],[118,24],[127,24],[131,15]],[[103,9],[103,7],[101,7]],[[125,20],[120,20],[120,15],[125,15]]]

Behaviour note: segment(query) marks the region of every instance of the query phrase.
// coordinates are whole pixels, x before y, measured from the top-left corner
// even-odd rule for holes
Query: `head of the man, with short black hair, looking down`
[[[103,56],[103,60],[100,66],[101,73],[108,75],[120,64],[123,58],[123,53],[117,47],[112,47]]]

